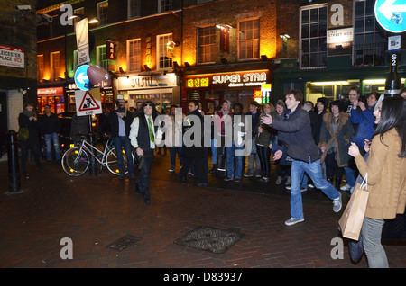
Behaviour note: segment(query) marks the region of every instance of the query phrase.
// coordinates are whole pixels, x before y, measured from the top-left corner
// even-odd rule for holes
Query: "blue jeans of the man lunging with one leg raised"
[[[314,161],[313,163],[293,161],[291,163],[291,217],[294,219],[304,218],[300,184],[305,172],[309,174],[314,186],[324,192],[328,198],[334,200],[339,197],[337,189],[331,183],[323,179],[320,160]]]

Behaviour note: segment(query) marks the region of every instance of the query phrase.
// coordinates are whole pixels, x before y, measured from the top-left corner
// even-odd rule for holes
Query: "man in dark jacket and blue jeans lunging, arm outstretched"
[[[311,134],[309,113],[301,109],[303,94],[299,90],[291,90],[286,94],[286,107],[290,110],[284,119],[272,119],[264,116],[261,121],[278,130],[279,139],[288,147],[287,154],[291,163],[291,219],[285,221],[287,226],[304,221],[303,204],[301,201],[300,183],[303,174],[309,174],[316,188],[334,200],[333,210],[341,210],[341,193],[322,177],[320,155]],[[281,158],[282,151],[274,154],[274,159]]]

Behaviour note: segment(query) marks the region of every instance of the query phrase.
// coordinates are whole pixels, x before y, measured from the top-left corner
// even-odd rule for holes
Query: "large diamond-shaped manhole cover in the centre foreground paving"
[[[219,229],[198,227],[174,241],[180,246],[189,246],[199,250],[211,251],[215,254],[225,253],[243,237],[238,229]]]

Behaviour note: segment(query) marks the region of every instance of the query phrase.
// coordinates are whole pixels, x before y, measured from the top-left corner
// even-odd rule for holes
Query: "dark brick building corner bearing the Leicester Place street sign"
[[[0,158],[5,150],[6,132],[18,130],[17,118],[23,103],[36,99],[35,10],[35,0],[0,3]]]

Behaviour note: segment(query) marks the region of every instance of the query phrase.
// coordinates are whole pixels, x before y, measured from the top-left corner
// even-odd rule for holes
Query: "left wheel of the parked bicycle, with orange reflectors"
[[[89,159],[85,150],[72,147],[62,156],[62,168],[66,174],[77,177],[88,171]]]

